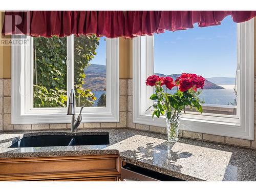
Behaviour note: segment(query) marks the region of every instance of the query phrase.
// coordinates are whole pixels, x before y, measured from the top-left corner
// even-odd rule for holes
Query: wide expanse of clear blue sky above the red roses
[[[226,17],[219,26],[154,35],[155,73],[196,73],[203,77],[235,77],[237,24]]]

